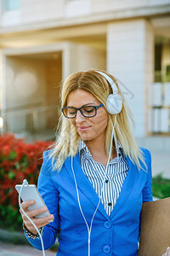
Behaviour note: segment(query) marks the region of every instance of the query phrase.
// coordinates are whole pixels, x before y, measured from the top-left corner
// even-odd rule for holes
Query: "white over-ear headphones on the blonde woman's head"
[[[122,97],[118,94],[116,84],[106,73],[103,73],[103,72],[97,71],[97,70],[95,72],[100,73],[102,76],[105,77],[105,79],[109,82],[109,84],[111,84],[113,93],[110,94],[106,100],[107,112],[111,113],[111,114],[120,113],[122,110]]]

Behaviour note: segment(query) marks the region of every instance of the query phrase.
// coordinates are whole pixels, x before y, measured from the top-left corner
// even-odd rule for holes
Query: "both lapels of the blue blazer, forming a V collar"
[[[90,181],[88,180],[88,177],[86,177],[86,175],[82,171],[79,154],[73,157],[73,169],[74,169],[75,177],[77,180],[77,187],[82,191],[84,195],[87,196],[88,200],[94,204],[94,207],[97,207],[99,203],[99,208],[98,208],[99,212],[101,212],[105,216],[105,218],[107,218],[108,220],[111,220],[111,218],[113,218],[116,215],[116,212],[118,212],[120,207],[122,207],[124,202],[127,200],[127,197],[130,194],[131,190],[133,189],[134,173],[135,173],[133,171],[134,171],[134,168],[136,169],[136,166],[133,165],[133,163],[128,157],[127,157],[127,165],[129,167],[129,170],[127,172],[127,177],[125,178],[124,183],[122,184],[121,193],[109,217],[105,212],[105,208],[101,203],[101,201],[99,203],[99,195],[97,195],[97,193],[95,192],[92,183],[90,183]],[[69,172],[71,179],[75,183],[73,172],[71,170],[71,157],[65,160],[65,168],[67,172]],[[138,172],[138,170],[135,170],[135,171]]]

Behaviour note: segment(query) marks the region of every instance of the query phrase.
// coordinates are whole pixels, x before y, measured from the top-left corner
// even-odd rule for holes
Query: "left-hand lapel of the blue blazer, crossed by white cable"
[[[71,170],[71,157],[65,160],[65,168],[67,172],[69,172],[71,179],[75,183],[73,172]],[[80,189],[82,193],[87,196],[88,200],[94,204],[94,207],[97,207],[99,204],[99,207],[98,207],[99,212],[101,212],[105,216],[105,218],[109,220],[109,216],[105,212],[105,208],[103,204],[101,203],[101,201],[99,203],[99,195],[97,195],[92,183],[90,183],[90,181],[88,180],[88,177],[86,177],[86,175],[82,171],[79,154],[73,157],[73,170],[75,172],[78,189]]]

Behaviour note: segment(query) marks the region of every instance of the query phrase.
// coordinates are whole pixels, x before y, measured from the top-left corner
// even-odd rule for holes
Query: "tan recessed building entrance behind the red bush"
[[[59,82],[62,79],[61,53],[57,59],[43,56],[15,56],[6,59],[6,100],[8,131],[54,129],[57,125]],[[4,102],[4,101],[3,101]],[[43,109],[51,106],[52,108]]]

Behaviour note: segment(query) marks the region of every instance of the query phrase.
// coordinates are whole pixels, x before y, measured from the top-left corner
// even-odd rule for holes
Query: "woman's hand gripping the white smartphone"
[[[33,221],[34,224],[36,224],[37,229],[42,228],[43,226],[49,224],[49,222],[51,220],[54,220],[54,215],[49,215],[48,217],[44,217],[44,218],[34,218],[37,214],[40,214],[42,212],[47,212],[48,208],[47,207],[42,207],[42,208],[38,208],[36,210],[28,210],[28,207],[32,206],[35,204],[35,201],[33,200],[29,200],[29,201],[25,201],[21,203],[21,207],[23,208],[23,210],[26,212],[26,214],[28,215],[28,217],[31,218],[31,220]],[[24,224],[26,225],[26,228],[34,235],[37,235],[37,230],[34,228],[34,226],[31,224],[30,220],[28,218],[26,218],[26,215],[21,211],[20,209],[20,214],[21,217],[24,221]]]

